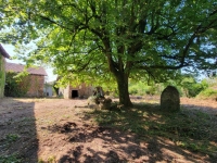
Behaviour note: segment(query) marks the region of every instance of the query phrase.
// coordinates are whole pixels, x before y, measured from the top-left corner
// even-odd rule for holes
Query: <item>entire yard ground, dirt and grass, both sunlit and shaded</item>
[[[35,103],[3,99],[0,162],[47,163],[53,155],[50,162],[58,163],[217,162],[216,115],[188,105],[166,113],[139,100],[133,108],[112,111],[72,106],[73,100],[40,101],[40,114],[35,110],[39,145]]]

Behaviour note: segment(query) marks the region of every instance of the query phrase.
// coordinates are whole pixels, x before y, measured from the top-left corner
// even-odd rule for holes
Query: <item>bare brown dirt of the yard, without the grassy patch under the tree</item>
[[[157,104],[158,99],[133,97],[132,102]],[[216,101],[182,98],[181,104],[217,115]],[[79,99],[1,99],[0,155],[17,153],[25,163],[209,162],[169,139],[138,139],[133,133],[99,126],[87,114],[91,111]]]

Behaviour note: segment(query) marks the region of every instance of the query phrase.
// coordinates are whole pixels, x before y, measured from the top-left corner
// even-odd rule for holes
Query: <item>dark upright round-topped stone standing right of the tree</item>
[[[161,110],[168,112],[180,111],[180,97],[176,87],[167,86],[161,96]]]

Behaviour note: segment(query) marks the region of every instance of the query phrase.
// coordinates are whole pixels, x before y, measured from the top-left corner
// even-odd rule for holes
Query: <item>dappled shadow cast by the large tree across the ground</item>
[[[84,121],[94,120],[99,126],[67,122],[50,128],[69,134],[67,141],[78,145],[60,159],[61,163],[217,161],[215,115],[188,109],[165,113],[157,104],[149,103],[84,114]]]

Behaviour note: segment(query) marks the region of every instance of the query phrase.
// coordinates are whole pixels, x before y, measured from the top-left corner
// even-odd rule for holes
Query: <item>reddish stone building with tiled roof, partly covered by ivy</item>
[[[5,63],[5,72],[21,73],[25,68],[23,64]],[[43,67],[27,68],[28,76],[23,80],[23,84],[28,84],[27,97],[43,97],[44,76],[47,73]]]

